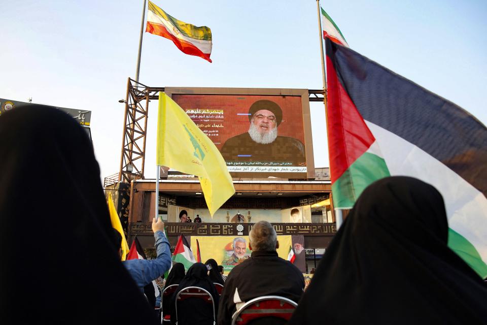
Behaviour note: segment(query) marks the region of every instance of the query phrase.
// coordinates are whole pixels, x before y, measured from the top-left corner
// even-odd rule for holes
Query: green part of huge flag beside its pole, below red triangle
[[[331,184],[335,209],[351,209],[367,186],[388,176],[384,158],[365,152]]]

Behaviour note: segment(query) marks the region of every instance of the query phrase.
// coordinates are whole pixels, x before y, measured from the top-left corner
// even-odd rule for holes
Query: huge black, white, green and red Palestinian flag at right
[[[389,175],[445,201],[448,246],[487,277],[487,129],[459,106],[326,40],[328,146],[335,208]]]

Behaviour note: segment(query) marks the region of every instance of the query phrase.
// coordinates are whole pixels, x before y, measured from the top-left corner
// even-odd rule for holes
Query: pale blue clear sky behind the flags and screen
[[[315,0],[163,1],[206,25],[213,63],[144,33],[140,81],[149,86],[322,87]],[[118,173],[127,77],[134,77],[142,0],[7,1],[0,10],[0,98],[92,111],[101,177]],[[460,105],[487,124],[487,2],[327,0],[352,49]],[[155,103],[146,177],[154,177]],[[311,103],[315,166],[327,167],[323,104]]]

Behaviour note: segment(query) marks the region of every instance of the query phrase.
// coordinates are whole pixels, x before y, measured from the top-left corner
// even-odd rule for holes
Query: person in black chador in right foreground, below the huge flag
[[[447,246],[441,194],[410,177],[364,190],[291,324],[487,324],[487,288]]]

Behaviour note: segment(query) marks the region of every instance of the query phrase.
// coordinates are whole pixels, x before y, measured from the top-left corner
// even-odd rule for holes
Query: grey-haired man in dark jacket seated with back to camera
[[[272,225],[259,221],[250,232],[252,256],[235,266],[225,281],[220,297],[218,324],[230,324],[232,314],[245,302],[268,295],[289,298],[296,303],[304,289],[302,273],[277,256],[279,242]]]

